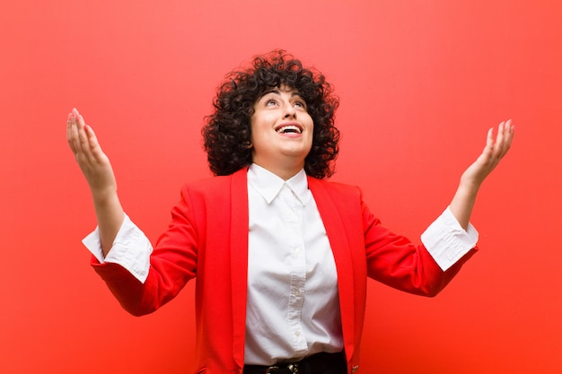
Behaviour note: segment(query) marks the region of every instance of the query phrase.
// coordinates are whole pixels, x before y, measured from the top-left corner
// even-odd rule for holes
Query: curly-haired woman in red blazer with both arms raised
[[[508,151],[511,121],[487,134],[423,245],[385,229],[357,187],[326,180],[338,155],[338,100],[284,51],[221,85],[203,128],[214,178],[181,187],[155,243],[124,213],[108,157],[76,109],[67,140],[98,227],[83,240],[121,305],[153,312],[197,276],[198,373],[367,372],[359,368],[367,277],[433,296],[475,252],[470,213]]]

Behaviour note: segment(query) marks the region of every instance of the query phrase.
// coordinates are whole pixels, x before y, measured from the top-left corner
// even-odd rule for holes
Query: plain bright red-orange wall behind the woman
[[[80,240],[95,221],[66,145],[80,109],[155,239],[209,175],[199,128],[224,74],[285,48],[341,99],[334,179],[417,239],[487,128],[514,147],[473,222],[480,253],[435,299],[370,284],[364,373],[562,372],[562,5],[554,1],[98,0],[0,3],[0,371],[186,373],[193,284],[120,309]]]

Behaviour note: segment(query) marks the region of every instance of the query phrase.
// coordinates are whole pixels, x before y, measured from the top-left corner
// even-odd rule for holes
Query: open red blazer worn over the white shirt
[[[433,296],[474,250],[443,272],[425,248],[382,227],[359,188],[308,178],[338,270],[348,372],[356,372],[367,276],[402,291]],[[158,239],[145,283],[123,267],[94,268],[123,308],[139,316],[173,299],[197,276],[197,373],[241,373],[248,271],[247,170],[191,183]]]

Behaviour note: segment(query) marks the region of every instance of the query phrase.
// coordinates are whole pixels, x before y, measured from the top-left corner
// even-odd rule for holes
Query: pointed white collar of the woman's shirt
[[[303,206],[308,200],[308,179],[304,169],[301,169],[294,177],[283,180],[271,171],[252,163],[248,169],[248,182],[258,191],[259,195],[266,199],[268,204],[279,194],[284,185],[293,191],[294,196]]]

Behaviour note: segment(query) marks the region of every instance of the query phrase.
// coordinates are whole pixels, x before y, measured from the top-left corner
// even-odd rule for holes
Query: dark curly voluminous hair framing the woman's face
[[[250,165],[250,117],[254,103],[266,91],[282,86],[299,92],[314,123],[305,172],[314,178],[333,174],[331,161],[338,156],[339,141],[339,131],[334,126],[338,98],[323,74],[304,68],[284,50],[275,50],[254,57],[249,67],[227,74],[218,87],[214,113],[206,117],[206,126],[201,131],[209,167],[215,175],[230,175]]]

